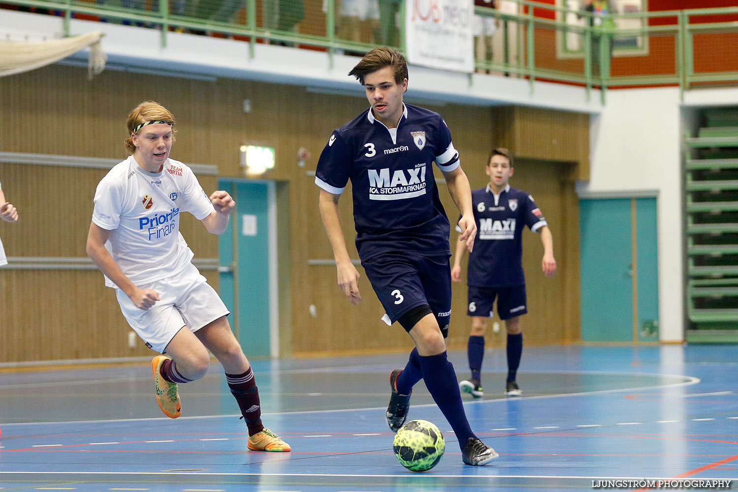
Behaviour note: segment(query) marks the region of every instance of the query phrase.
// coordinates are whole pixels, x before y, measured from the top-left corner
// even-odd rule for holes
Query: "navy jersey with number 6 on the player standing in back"
[[[528,226],[535,232],[548,225],[533,197],[509,184],[495,196],[488,185],[472,191],[472,207],[477,239],[469,254],[466,284],[524,285],[523,229]]]

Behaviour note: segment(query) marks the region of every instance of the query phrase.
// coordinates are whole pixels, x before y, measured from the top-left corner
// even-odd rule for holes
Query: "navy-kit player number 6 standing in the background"
[[[485,168],[489,184],[485,188],[472,191],[474,218],[478,228],[476,247],[469,253],[467,269],[467,285],[469,285],[467,314],[472,316],[472,331],[469,335],[467,353],[472,377],[461,381],[459,387],[475,398],[484,395],[480,382],[484,333],[487,329],[487,320],[492,317],[495,297],[497,297],[497,314],[505,321],[507,330],[508,376],[505,393],[508,396],[521,394],[515,379],[517,368],[520,366],[520,357],[523,355],[520,316],[528,312],[523,276],[525,226],[541,235],[543,273],[550,277],[556,272],[554,239],[542,212],[531,195],[511,188],[508,184],[514,171],[512,160],[506,148],[492,150]],[[456,247],[454,266],[451,269],[454,282],[461,280],[463,251],[462,239]]]

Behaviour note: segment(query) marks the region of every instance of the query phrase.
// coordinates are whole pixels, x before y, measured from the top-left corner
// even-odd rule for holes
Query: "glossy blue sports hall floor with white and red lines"
[[[176,420],[156,406],[145,361],[2,372],[0,489],[570,491],[614,478],[738,479],[737,353],[729,345],[531,347],[518,376],[523,397],[505,398],[504,351],[488,350],[486,394],[464,395],[465,406],[500,457],[463,465],[420,383],[409,418],[431,420],[446,437],[446,454],[424,474],[395,460],[384,422],[400,354],[253,362],[264,423],[292,445],[285,454],[246,450],[218,364],[180,387]],[[450,358],[466,378],[466,353]]]

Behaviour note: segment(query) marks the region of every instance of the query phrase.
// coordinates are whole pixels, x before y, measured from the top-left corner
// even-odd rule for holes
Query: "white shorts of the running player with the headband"
[[[120,290],[115,295],[120,311],[146,346],[164,353],[167,345],[183,326],[194,333],[210,322],[230,313],[215,289],[190,263],[173,277],[138,285],[159,293],[159,300],[149,309],[140,309]]]

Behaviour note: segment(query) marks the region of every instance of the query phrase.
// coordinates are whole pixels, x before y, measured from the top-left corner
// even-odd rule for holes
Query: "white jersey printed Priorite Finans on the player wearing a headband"
[[[97,185],[94,224],[111,232],[105,246],[134,285],[171,277],[194,256],[179,233],[179,214],[198,220],[213,212],[210,198],[182,162],[167,159],[161,173],[128,157]],[[108,277],[105,285],[116,287]]]

